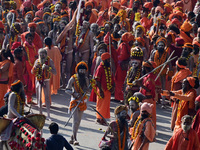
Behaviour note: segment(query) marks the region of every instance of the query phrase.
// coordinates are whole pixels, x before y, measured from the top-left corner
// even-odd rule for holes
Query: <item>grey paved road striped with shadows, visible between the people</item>
[[[68,141],[70,140],[70,135],[72,133],[70,120],[69,124],[64,127],[64,124],[69,118],[68,106],[69,106],[70,97],[63,91],[60,90],[57,95],[52,96],[52,106],[51,106],[51,118],[52,121],[59,124],[60,130],[59,133],[62,134]],[[88,105],[95,106],[95,103],[88,102]],[[111,119],[114,120],[114,109],[118,106],[118,103],[111,102]],[[32,111],[38,113],[38,107],[32,106]],[[46,108],[43,108],[44,115],[46,115]],[[172,135],[170,130],[170,114],[171,108],[165,110],[160,109],[160,106],[157,106],[157,137],[156,142],[150,144],[150,150],[163,150],[167,141]],[[106,126],[97,125],[95,123],[95,112],[91,108],[83,114],[81,125],[78,132],[78,141],[80,146],[74,147],[75,150],[98,150],[98,144],[101,140]],[[51,122],[46,121],[43,128],[43,136],[48,138],[50,136],[48,126]],[[101,130],[102,129],[102,130]]]

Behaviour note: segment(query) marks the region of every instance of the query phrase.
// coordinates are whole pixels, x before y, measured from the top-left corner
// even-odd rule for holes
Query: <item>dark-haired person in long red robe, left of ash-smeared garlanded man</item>
[[[26,41],[24,42],[24,48],[27,53],[27,60],[26,60],[26,74],[24,76],[26,80],[27,89],[25,91],[27,95],[27,103],[30,104],[32,102],[32,94],[35,91],[35,77],[31,73],[31,69],[33,68],[34,62],[38,57],[38,49],[33,44],[33,35],[31,33],[27,33]]]

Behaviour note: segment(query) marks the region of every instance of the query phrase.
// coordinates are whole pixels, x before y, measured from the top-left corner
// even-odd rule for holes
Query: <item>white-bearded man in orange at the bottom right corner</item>
[[[168,141],[165,150],[199,150],[197,133],[191,128],[193,118],[189,115],[182,117],[181,128]]]

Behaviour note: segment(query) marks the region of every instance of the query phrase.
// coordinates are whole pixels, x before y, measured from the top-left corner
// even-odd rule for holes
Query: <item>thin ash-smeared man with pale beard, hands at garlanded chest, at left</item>
[[[47,56],[47,51],[43,48],[38,51],[39,58],[35,61],[32,68],[32,74],[36,77],[36,97],[39,103],[40,114],[42,114],[41,91],[43,89],[45,95],[45,105],[47,108],[47,119],[50,118],[50,78],[51,73],[56,74],[53,60]]]

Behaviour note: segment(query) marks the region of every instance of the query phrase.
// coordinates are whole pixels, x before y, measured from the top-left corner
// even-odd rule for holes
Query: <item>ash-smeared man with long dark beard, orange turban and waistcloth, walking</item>
[[[84,61],[81,61],[77,64],[75,71],[76,74],[74,74],[68,81],[66,93],[71,95],[69,110],[70,112],[73,112],[72,136],[69,143],[79,145],[79,142],[77,141],[77,132],[81,123],[83,111],[87,109],[86,102],[88,97],[86,95],[83,97],[83,95],[85,92],[87,92],[87,87],[89,85],[89,79],[86,76],[88,66]],[[76,106],[80,100],[81,103],[76,109]]]

